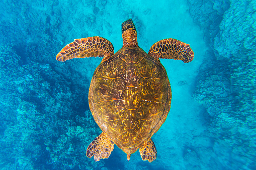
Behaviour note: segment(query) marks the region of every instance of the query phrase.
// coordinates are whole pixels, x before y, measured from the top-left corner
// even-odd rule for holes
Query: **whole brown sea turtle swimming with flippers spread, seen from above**
[[[116,144],[128,161],[139,149],[142,159],[151,162],[156,159],[151,137],[165,121],[172,99],[159,58],[188,63],[194,53],[189,44],[172,38],[156,42],[145,53],[138,46],[131,19],[122,23],[122,37],[123,48],[116,53],[105,38],[76,39],[57,54],[56,60],[103,57],[89,89],[90,110],[103,132],[88,146],[87,156],[94,156],[95,161],[108,158]]]

